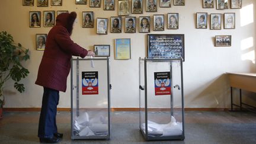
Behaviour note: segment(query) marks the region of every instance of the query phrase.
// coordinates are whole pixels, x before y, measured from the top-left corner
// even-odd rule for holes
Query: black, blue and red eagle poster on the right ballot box
[[[170,72],[154,72],[155,95],[171,94]]]

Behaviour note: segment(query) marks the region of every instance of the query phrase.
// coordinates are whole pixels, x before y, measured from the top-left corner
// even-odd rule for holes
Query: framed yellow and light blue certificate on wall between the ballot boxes
[[[130,39],[116,39],[116,59],[131,59]]]

